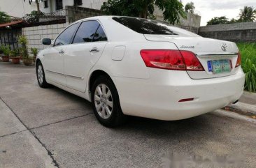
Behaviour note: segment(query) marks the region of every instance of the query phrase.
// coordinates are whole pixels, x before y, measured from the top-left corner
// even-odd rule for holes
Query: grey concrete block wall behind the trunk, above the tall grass
[[[256,22],[201,26],[199,35],[234,42],[256,42]]]

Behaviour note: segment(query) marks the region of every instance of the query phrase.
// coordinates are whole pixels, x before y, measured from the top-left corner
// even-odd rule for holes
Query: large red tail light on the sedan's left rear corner
[[[145,66],[169,70],[204,70],[193,52],[171,49],[142,49]]]

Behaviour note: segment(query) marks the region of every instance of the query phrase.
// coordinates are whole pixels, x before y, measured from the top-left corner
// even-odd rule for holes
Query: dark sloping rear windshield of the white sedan
[[[113,20],[127,26],[133,31],[143,34],[197,36],[190,31],[185,31],[178,27],[155,20],[147,20],[138,17],[113,17]]]

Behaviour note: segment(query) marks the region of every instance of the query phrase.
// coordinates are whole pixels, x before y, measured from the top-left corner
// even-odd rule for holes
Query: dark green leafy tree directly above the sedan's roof
[[[171,24],[185,18],[183,4],[178,0],[108,0],[101,6],[106,15],[125,15],[133,17],[153,17],[154,6],[163,10],[164,20]]]

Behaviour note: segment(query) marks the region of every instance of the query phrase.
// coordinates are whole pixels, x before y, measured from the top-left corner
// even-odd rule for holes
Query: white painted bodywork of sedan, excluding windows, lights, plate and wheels
[[[36,59],[41,61],[49,84],[91,101],[90,79],[103,71],[118,90],[123,114],[166,121],[213,112],[239,100],[243,93],[245,75],[241,66],[235,68],[239,53],[235,43],[202,38],[176,27],[173,29],[182,35],[137,33],[111,16],[77,22],[88,20],[99,22],[108,40],[43,49]],[[141,58],[141,49],[193,52],[204,71],[149,68]],[[208,72],[207,61],[214,59],[232,60],[231,72]],[[193,100],[179,102],[187,98]]]

